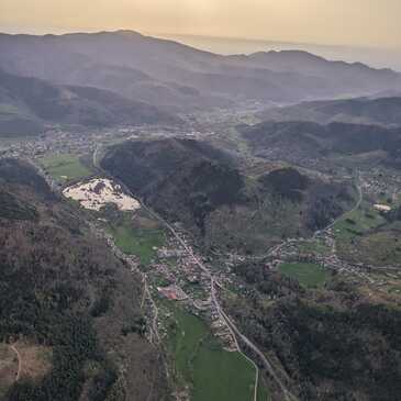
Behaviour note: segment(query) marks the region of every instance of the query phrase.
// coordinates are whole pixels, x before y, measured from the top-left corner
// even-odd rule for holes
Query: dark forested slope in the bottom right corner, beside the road
[[[335,277],[308,291],[260,263],[241,264],[235,272],[248,297],[231,303],[231,312],[249,338],[277,357],[301,400],[399,398],[399,309],[371,302]]]

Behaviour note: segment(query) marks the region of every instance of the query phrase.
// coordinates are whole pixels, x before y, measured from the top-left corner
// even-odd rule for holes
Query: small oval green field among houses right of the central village
[[[305,288],[322,287],[330,278],[330,274],[316,264],[281,264],[279,271],[283,276],[298,280],[299,283]]]

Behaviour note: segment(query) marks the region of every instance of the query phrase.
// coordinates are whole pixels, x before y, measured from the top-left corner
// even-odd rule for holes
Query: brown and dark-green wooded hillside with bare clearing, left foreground
[[[27,356],[13,383],[3,367],[1,399],[164,400],[141,279],[29,165],[0,160],[0,343]]]

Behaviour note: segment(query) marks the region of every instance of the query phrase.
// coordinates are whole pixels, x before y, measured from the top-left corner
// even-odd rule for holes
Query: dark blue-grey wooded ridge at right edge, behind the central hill
[[[243,136],[255,155],[286,160],[374,154],[375,163],[382,160],[400,166],[401,129],[379,125],[314,122],[267,121],[254,126],[241,126]],[[378,153],[381,156],[378,157]],[[356,159],[355,159],[356,161]],[[341,161],[344,165],[344,160]],[[328,165],[328,164],[327,164]]]

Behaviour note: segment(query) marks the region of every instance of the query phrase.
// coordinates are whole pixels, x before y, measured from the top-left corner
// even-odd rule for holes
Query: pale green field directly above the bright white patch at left
[[[43,168],[58,182],[89,177],[92,171],[78,156],[70,154],[54,155],[40,160]]]

